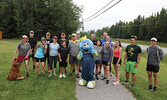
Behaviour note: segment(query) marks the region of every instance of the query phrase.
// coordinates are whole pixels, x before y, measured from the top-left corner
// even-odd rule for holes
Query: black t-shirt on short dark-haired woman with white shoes
[[[59,53],[60,53],[60,57],[62,60],[66,60],[67,59],[67,55],[69,54],[69,49],[68,47],[61,47],[59,49]]]

